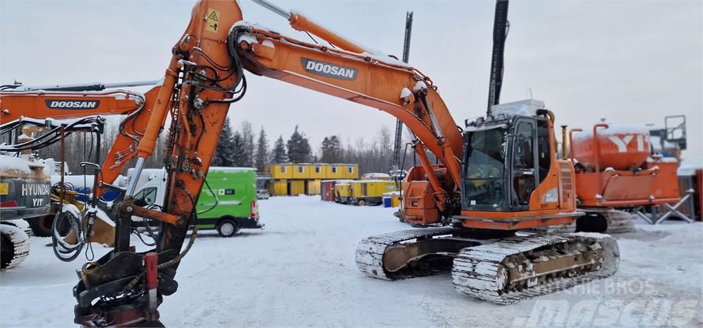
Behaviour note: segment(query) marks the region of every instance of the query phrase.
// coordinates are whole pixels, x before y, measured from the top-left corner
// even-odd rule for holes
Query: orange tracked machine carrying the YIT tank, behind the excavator
[[[566,137],[565,127],[562,135]],[[599,123],[569,132],[578,207],[586,213],[576,221],[577,230],[628,232],[634,228],[633,209],[651,211],[681,200],[678,160],[652,154],[650,148],[644,127]]]

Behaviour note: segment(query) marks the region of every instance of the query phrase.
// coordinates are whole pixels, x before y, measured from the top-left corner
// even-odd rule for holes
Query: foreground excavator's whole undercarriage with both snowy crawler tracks
[[[368,237],[356,248],[356,266],[381,280],[451,272],[460,293],[512,304],[610,277],[619,256],[614,238],[598,233],[486,234],[444,227]]]

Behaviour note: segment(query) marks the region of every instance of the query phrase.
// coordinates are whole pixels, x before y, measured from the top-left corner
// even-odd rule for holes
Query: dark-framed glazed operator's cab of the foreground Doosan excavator
[[[464,132],[461,208],[527,211],[550,168],[547,120],[515,116]]]

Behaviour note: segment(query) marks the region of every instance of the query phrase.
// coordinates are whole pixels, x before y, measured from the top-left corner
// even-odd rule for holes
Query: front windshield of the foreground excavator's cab
[[[503,204],[507,136],[508,130],[502,126],[469,133],[470,147],[464,161],[464,208],[490,206],[497,210]]]

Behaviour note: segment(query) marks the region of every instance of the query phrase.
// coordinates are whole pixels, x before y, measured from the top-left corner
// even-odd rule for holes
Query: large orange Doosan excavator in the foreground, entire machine
[[[243,22],[236,0],[195,5],[162,86],[147,104],[150,117],[136,146],[134,178],[108,212],[117,223],[115,247],[79,272],[77,324],[160,324],[157,307],[176,291],[176,270],[197,236],[193,227],[183,249],[228,107],[245,95],[245,70],[388,112],[413,132],[421,166],[408,174],[404,211],[412,221],[444,226],[362,240],[356,249],[362,273],[398,280],[451,270],[461,293],[510,304],[617,271],[619,250],[608,235],[521,231],[572,223],[582,213],[576,211],[574,167],[555,157],[554,114],[534,100],[498,105],[502,64],[494,60],[486,117],[461,129],[432,79],[415,67],[301,13],[255,2],[325,42],[311,44]],[[508,1],[498,0],[496,20],[503,27],[507,10]],[[505,32],[494,31],[494,41]],[[155,211],[133,196],[167,117],[166,206]],[[432,164],[427,151],[441,164]],[[162,224],[152,251],[131,247],[134,215]]]

